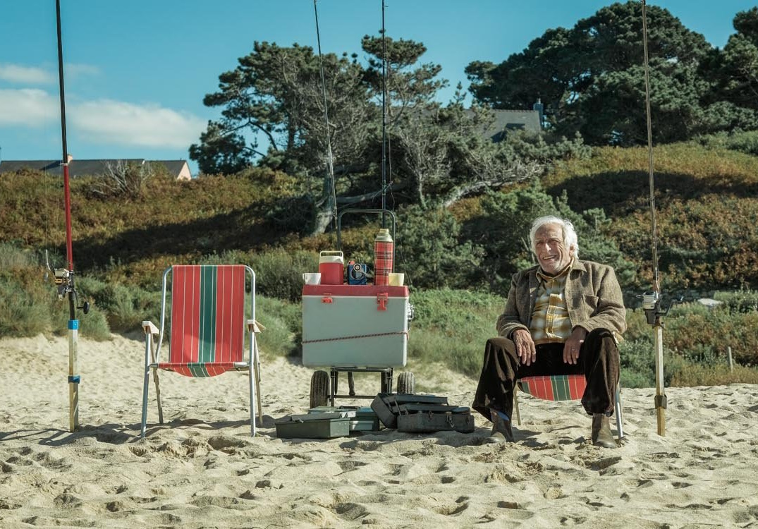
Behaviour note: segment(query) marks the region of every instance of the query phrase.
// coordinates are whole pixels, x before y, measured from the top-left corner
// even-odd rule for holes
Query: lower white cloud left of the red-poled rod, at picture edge
[[[0,127],[42,127],[61,118],[57,95],[39,89],[0,89]]]

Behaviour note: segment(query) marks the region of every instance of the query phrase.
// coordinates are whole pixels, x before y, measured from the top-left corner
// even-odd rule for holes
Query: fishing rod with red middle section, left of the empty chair
[[[74,288],[74,252],[71,243],[71,195],[68,176],[68,149],[66,146],[66,103],[63,83],[63,38],[61,32],[61,0],[55,0],[55,21],[58,27],[58,80],[61,90],[61,140],[63,143],[63,193],[66,211],[66,265],[67,268],[55,268],[55,285],[58,287],[58,299],[68,297],[68,427],[74,431],[79,427],[79,360],[78,334],[79,320],[77,308],[86,314],[89,303],[77,307],[77,290]],[[47,264],[50,268],[50,265]]]

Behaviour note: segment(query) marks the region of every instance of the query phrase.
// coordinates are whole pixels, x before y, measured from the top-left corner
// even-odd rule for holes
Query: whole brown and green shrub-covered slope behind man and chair
[[[722,301],[713,310],[675,305],[666,325],[667,383],[758,382],[758,158],[690,142],[656,148],[655,168],[664,293]],[[172,263],[245,262],[258,274],[264,349],[299,355],[300,274],[315,270],[318,250],[337,243],[334,231],[299,233],[293,177],[265,169],[191,182],[159,175],[131,197],[110,198],[92,193],[95,185],[85,178],[71,186],[77,287],[92,302],[81,317],[84,336],[107,340],[143,319],[157,321],[161,272]],[[650,289],[649,192],[647,149],[600,148],[559,162],[539,182],[464,199],[449,211],[399,208],[397,268],[406,271],[417,308],[411,367],[444,362],[477,374],[508,272],[527,262],[523,231],[534,214],[572,215],[582,255],[608,255],[626,267],[619,277],[634,309],[634,294]],[[0,176],[0,291],[8,300],[0,336],[65,332],[67,311],[42,282],[45,250],[53,266],[65,261],[62,195],[55,177]],[[377,222],[346,218],[346,255],[370,259]],[[625,385],[650,385],[650,327],[640,310],[630,310],[628,321]],[[735,371],[726,368],[727,347]]]

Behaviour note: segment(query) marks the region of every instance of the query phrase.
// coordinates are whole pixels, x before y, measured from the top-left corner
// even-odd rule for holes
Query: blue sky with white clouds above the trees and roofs
[[[384,0],[387,35],[424,42],[450,87],[471,61],[505,60],[553,27],[572,27],[600,0]],[[723,47],[755,0],[659,0]],[[321,49],[360,53],[378,35],[381,0],[318,0]],[[218,109],[203,96],[253,42],[316,49],[312,0],[61,0],[68,151],[74,158],[188,159]],[[470,95],[467,97],[470,102]],[[0,4],[0,159],[61,158],[55,0]],[[196,166],[190,163],[193,174]]]

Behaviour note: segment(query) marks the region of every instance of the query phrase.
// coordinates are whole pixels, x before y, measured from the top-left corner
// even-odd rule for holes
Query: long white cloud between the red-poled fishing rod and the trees
[[[91,142],[186,149],[196,142],[206,121],[160,105],[102,99],[75,105],[67,121]]]

